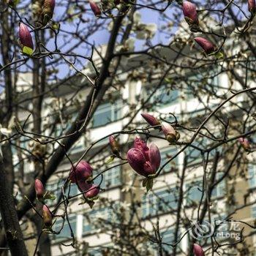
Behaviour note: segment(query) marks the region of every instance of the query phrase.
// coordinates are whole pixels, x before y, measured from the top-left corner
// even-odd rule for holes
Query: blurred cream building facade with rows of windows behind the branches
[[[130,63],[134,61],[140,62],[140,56],[129,59]],[[111,151],[108,145],[109,135],[118,135],[121,131],[131,131],[135,128],[144,127],[146,129],[147,124],[140,116],[142,112],[149,112],[173,124],[191,127],[191,129],[185,129],[181,132],[181,142],[188,141],[195,133],[193,127],[198,127],[198,124],[205,120],[212,110],[217,108],[222,102],[221,96],[230,89],[230,78],[227,73],[219,72],[217,69],[206,69],[205,72],[195,71],[187,75],[182,87],[176,86],[175,74],[170,75],[161,86],[158,84],[159,78],[156,78],[152,83],[143,83],[143,78],[134,78],[125,70],[122,78],[125,80],[124,86],[108,93],[105,101],[99,105],[94,113],[90,129],[69,152],[69,157],[73,162],[76,162],[86,151],[86,148],[92,147],[89,154],[86,154],[83,159],[89,161],[94,168],[94,177],[99,174],[94,180],[94,183],[100,184],[102,189],[99,193],[99,199],[93,208],[90,208],[87,203],[82,203],[79,197],[71,198],[67,207],[61,206],[59,208],[59,211],[56,212],[58,217],[55,218],[53,225],[53,230],[56,233],[50,234],[52,254],[54,256],[136,255],[135,252],[137,252],[138,255],[159,255],[159,243],[155,234],[157,227],[162,239],[163,255],[172,255],[173,244],[180,238],[176,246],[176,255],[188,255],[189,243],[195,236],[192,234],[195,231],[195,223],[199,219],[198,214],[200,214],[197,209],[199,206],[203,207],[204,197],[206,197],[204,191],[208,191],[205,190],[204,182],[211,178],[213,184],[217,183],[211,191],[211,203],[207,204],[208,210],[211,211],[212,222],[210,223],[206,217],[207,221],[200,223],[200,225],[208,225],[208,232],[211,236],[208,236],[208,233],[204,234],[201,230],[202,236],[200,239],[195,236],[195,239],[206,249],[211,244],[212,237],[214,237],[215,244],[232,244],[238,241],[236,238],[241,238],[238,236],[238,234],[241,235],[241,223],[233,223],[232,219],[227,220],[227,217],[230,216],[236,221],[243,221],[252,225],[254,223],[256,216],[255,203],[253,203],[256,186],[254,162],[256,156],[254,152],[248,155],[244,152],[244,159],[246,160],[241,161],[239,166],[231,167],[228,175],[226,175],[225,166],[232,162],[234,151],[239,147],[237,140],[235,140],[236,143],[233,144],[231,151],[223,143],[216,150],[213,149],[208,154],[205,152],[202,155],[200,148],[210,148],[221,141],[219,138],[223,136],[223,129],[215,124],[214,118],[207,124],[207,127],[211,127],[211,132],[214,133],[211,138],[215,138],[215,140],[199,134],[197,139],[192,142],[192,146],[181,151],[178,157],[165,165],[162,173],[155,178],[154,187],[150,192],[146,192],[146,188],[142,186],[142,178],[136,175],[128,164],[123,165],[121,159],[110,161]],[[88,88],[86,85],[83,87],[83,80],[80,84],[82,87],[80,97],[83,98],[88,93]],[[252,82],[249,86],[254,84]],[[208,90],[216,89],[216,91],[204,94],[200,91],[200,86],[203,86],[204,89],[208,88]],[[154,92],[155,89],[157,90]],[[236,89],[236,83],[232,84],[232,89]],[[69,89],[61,91],[58,97],[48,99],[48,104],[50,105],[54,101],[62,104],[70,94]],[[219,99],[217,97],[211,99],[211,94],[219,95]],[[246,116],[240,116],[241,113],[234,106],[246,102],[246,97],[248,96],[241,94],[234,99],[232,104],[225,105],[222,110],[221,114],[230,116],[232,125],[235,127],[236,119],[246,118]],[[63,101],[62,103],[59,102],[60,99]],[[138,110],[133,121],[129,123],[127,113],[130,113],[134,106],[141,105],[141,102],[146,103]],[[50,111],[50,108],[45,106],[45,124],[50,122]],[[70,107],[69,118],[71,120],[75,118],[76,113],[75,108]],[[26,114],[23,115],[23,118],[26,118]],[[216,127],[213,128],[215,125]],[[59,124],[56,124],[53,135],[61,136],[68,127],[68,122],[61,123],[60,121]],[[147,138],[145,133],[140,134],[140,138],[147,140],[148,143],[154,142],[159,146],[162,157],[161,165],[164,165],[181,149],[182,144],[170,145],[167,140],[157,138],[163,137],[162,132],[158,130],[151,131],[151,135],[153,136]],[[234,135],[236,135],[235,129]],[[121,135],[118,136],[121,156],[124,159],[136,136],[138,136],[136,132],[121,132]],[[253,136],[250,140],[252,144],[255,143]],[[26,140],[23,143],[24,147],[33,147]],[[54,150],[54,146],[57,145],[53,145],[51,151]],[[219,155],[218,161],[216,160],[217,155]],[[207,161],[204,159],[205,157],[207,157]],[[214,161],[217,161],[217,165],[220,167],[212,177]],[[34,167],[31,163],[27,162],[26,165],[28,165],[27,170],[33,170]],[[69,170],[70,164],[65,160],[56,174],[48,181],[47,189],[56,196],[56,200],[48,202],[51,209],[54,209],[58,200],[61,200],[61,187]],[[76,185],[69,184],[65,193],[67,197],[72,197],[77,195],[79,190]],[[242,207],[245,200],[244,195],[247,194],[246,202],[252,202],[252,204]],[[68,219],[64,214],[65,212],[68,212]],[[180,221],[177,226],[178,212]],[[231,230],[232,232],[230,231],[230,223],[236,226],[235,230]],[[132,225],[134,225],[133,230]],[[222,255],[225,255],[226,249],[231,255],[239,255],[238,253],[241,253],[240,255],[243,253],[244,255],[255,255],[253,230],[248,225],[243,227],[246,234],[252,233],[248,236],[245,235],[248,251],[243,252],[242,245],[233,249],[230,246],[223,246],[220,247],[220,250],[223,250],[223,252],[221,251]],[[212,229],[217,234],[216,236],[211,234]],[[133,235],[136,239],[130,237]]]

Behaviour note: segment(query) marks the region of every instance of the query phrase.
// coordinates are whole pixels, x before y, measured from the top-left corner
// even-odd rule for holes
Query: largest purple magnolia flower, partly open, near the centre
[[[135,138],[134,147],[127,152],[127,161],[136,173],[147,177],[156,173],[159,168],[161,162],[159,148],[154,143],[148,148],[145,141]]]

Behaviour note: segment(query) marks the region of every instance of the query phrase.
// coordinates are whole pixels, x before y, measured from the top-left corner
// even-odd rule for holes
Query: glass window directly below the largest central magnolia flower
[[[161,189],[158,191],[148,192],[143,195],[142,200],[142,217],[154,216],[170,212],[177,207],[176,195],[177,189]]]

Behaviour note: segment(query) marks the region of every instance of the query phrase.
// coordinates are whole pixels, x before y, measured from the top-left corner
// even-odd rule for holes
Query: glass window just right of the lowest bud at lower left
[[[63,224],[64,222],[64,224]],[[76,222],[77,222],[77,217],[74,214],[69,214],[69,224],[67,222],[67,219],[57,219],[55,224],[53,225],[53,230],[55,232],[59,232],[59,234],[54,234],[53,235],[53,240],[54,241],[63,241],[63,240],[67,240],[69,238],[72,238],[71,236],[71,230],[70,227],[72,228],[73,233],[76,236]],[[63,228],[61,229],[63,225]],[[70,227],[69,227],[70,225]]]

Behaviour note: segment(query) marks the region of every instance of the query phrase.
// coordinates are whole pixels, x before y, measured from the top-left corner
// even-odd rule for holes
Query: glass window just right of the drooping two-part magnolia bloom
[[[95,178],[95,183],[99,184],[102,177],[99,176]],[[101,187],[103,189],[110,188],[110,187],[116,187],[121,184],[121,167],[116,166],[111,168],[110,170],[107,170],[105,173],[103,173],[103,181],[101,184]]]

